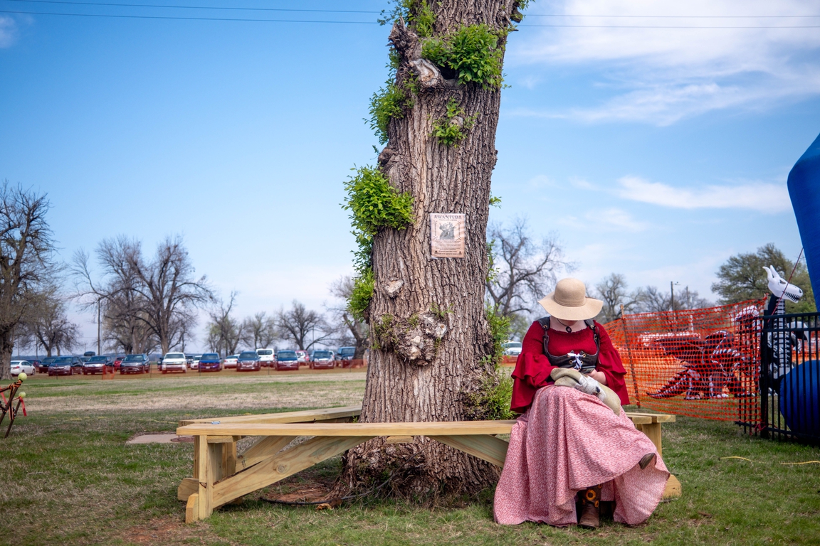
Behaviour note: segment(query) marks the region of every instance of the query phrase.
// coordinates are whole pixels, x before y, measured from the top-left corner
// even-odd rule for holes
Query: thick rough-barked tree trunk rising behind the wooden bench
[[[460,25],[503,29],[515,9],[509,0],[429,5],[436,14],[434,36]],[[414,217],[408,228],[383,228],[374,237],[371,359],[361,421],[458,421],[465,418],[465,393],[481,386],[493,369],[484,291],[500,92],[479,83],[459,85],[445,79],[453,74],[443,76],[429,61],[420,61],[419,39],[403,20],[394,24],[390,40],[402,60],[397,82],[415,74],[420,91],[403,118],[391,120],[379,163],[391,185],[412,194]],[[503,43],[502,38],[499,47]],[[465,117],[477,115],[458,147],[431,136],[453,98]],[[467,215],[465,258],[431,257],[432,213]],[[354,488],[374,483],[396,468],[403,469],[396,475],[403,494],[470,493],[498,478],[490,463],[417,437],[413,444],[376,439],[350,450],[342,483]]]

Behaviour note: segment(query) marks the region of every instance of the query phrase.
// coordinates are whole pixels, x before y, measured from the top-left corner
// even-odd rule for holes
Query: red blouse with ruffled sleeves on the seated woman
[[[626,382],[624,376],[626,370],[621,362],[621,355],[609,339],[604,327],[595,323],[600,336],[601,352],[598,358],[598,366],[595,368],[599,372],[604,372],[607,377],[607,386],[614,390],[621,399],[621,404],[629,404],[629,394],[626,392]],[[540,323],[532,323],[530,329],[522,341],[521,354],[512,372],[515,380],[512,386],[512,411],[516,413],[526,412],[532,404],[535,391],[542,386],[547,386],[553,381],[549,374],[555,368],[550,365],[544,354],[544,328]],[[560,330],[549,330],[549,353],[567,354],[573,350],[583,350],[587,354],[594,354],[595,340],[591,328],[585,328],[579,332],[562,332]]]

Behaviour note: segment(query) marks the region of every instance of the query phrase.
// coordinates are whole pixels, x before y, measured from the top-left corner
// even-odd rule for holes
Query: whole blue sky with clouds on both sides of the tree
[[[0,11],[376,18],[15,0]],[[818,29],[612,27],[811,26],[820,17],[783,16],[820,6],[569,0],[529,11],[508,45],[493,179],[503,204],[491,220],[556,232],[590,284],[617,272],[632,287],[676,281],[713,298],[730,255],[773,242],[796,258],[786,175],[820,132]],[[533,26],[551,24],[586,28]],[[0,178],[48,192],[64,259],[103,237],[151,249],[181,233],[198,273],[224,296],[239,291],[239,317],[294,299],[319,309],[352,271],[342,182],[375,159],[362,118],[385,80],[388,32],[0,13]],[[91,345],[92,318],[75,316]]]

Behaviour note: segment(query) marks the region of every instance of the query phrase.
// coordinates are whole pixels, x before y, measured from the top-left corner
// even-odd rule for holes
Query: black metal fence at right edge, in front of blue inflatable
[[[820,313],[758,321],[760,421],[754,428],[763,438],[820,444]]]

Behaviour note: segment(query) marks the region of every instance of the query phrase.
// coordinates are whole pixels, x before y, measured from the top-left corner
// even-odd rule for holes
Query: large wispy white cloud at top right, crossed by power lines
[[[810,14],[812,10],[798,0],[556,0],[540,3],[530,11],[590,16],[531,16],[525,22],[533,25],[818,25],[818,18],[726,18]],[[597,17],[601,15],[721,18]],[[611,90],[612,95],[597,106],[514,112],[518,115],[666,125],[708,111],[768,108],[820,94],[820,29],[816,28],[522,30],[522,42],[511,43],[510,64],[600,68],[603,76],[599,88]]]

